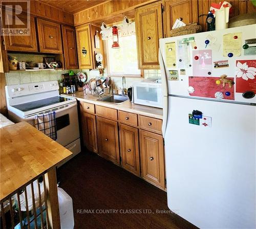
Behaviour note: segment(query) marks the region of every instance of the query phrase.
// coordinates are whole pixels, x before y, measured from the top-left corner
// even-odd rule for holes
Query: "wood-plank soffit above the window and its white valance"
[[[74,24],[75,26],[79,26],[82,24],[86,24],[91,21],[99,22],[101,19],[105,20],[105,17],[112,17],[113,20],[119,20],[118,14],[122,12],[127,12],[127,16],[129,15],[129,11],[134,10],[135,7],[142,6],[148,3],[156,2],[156,0],[111,0],[104,2],[102,4],[98,4],[95,7],[88,8],[86,10],[82,10],[78,13],[74,14]],[[122,15],[121,15],[122,16]],[[131,16],[131,15],[129,15]],[[133,16],[134,17],[134,16]],[[117,19],[116,19],[117,18]],[[98,23],[99,24],[99,23]]]

